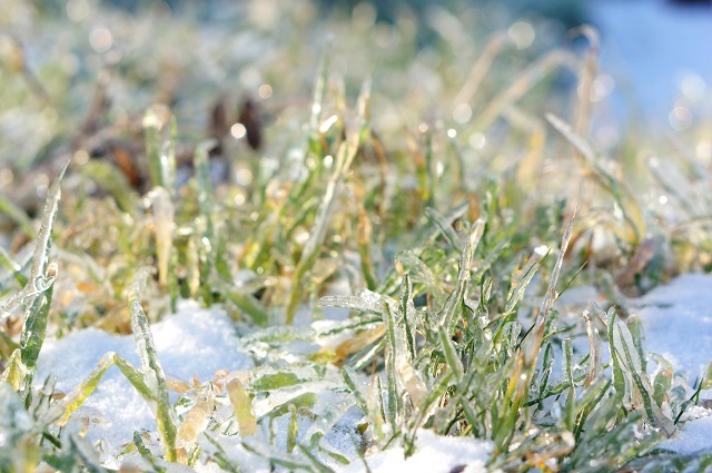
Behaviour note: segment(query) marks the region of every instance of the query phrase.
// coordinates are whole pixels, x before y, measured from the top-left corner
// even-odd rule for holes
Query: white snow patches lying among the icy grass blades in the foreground
[[[581,308],[594,298],[596,293],[591,288],[572,289],[567,298],[560,303],[575,304]],[[629,299],[627,305],[643,323],[647,352],[662,354],[675,369],[685,371],[691,381],[704,374],[712,354],[712,276],[680,276],[643,297]],[[317,326],[328,323],[330,322],[315,322]],[[152,325],[152,333],[159,359],[169,380],[192,385],[194,377],[205,383],[214,380],[218,371],[244,376],[246,369],[254,367],[253,358],[241,346],[233,322],[220,307],[205,309],[195,302],[181,302],[176,314]],[[40,385],[46,376],[53,374],[58,377],[57,387],[69,392],[91,372],[103,354],[111,351],[135,366],[139,365],[132,336],[116,336],[86,328],[60,339],[48,339],[40,355],[36,382]],[[275,368],[263,366],[255,373],[270,369]],[[339,452],[352,462],[348,466],[337,463],[329,465],[344,473],[365,471],[353,440],[354,426],[358,424],[362,414],[358,410],[348,407],[348,394],[338,388],[339,383],[338,369],[329,367],[320,380],[256,397],[255,414],[260,416],[301,393],[319,393],[318,402],[313,406],[314,412],[335,410],[339,418],[333,428],[329,427],[322,445]],[[174,396],[176,401],[177,395]],[[702,392],[701,400],[708,398],[712,398],[712,391]],[[116,367],[107,372],[96,392],[75,413],[75,417],[88,417],[92,421],[87,437],[92,442],[103,438],[102,459],[110,466],[120,463],[111,455],[131,441],[135,431],[145,430],[155,437],[155,421],[148,405]],[[277,445],[286,445],[288,417],[284,415],[274,420]],[[680,432],[661,446],[680,453],[712,450],[712,411],[692,406],[683,420],[685,422]],[[312,422],[299,420],[299,435],[307,432],[310,425]],[[265,430],[264,425],[261,430]],[[214,438],[222,446],[227,457],[249,471],[269,471],[268,462],[247,452],[235,436],[215,433]],[[207,441],[201,441],[200,444],[205,452],[214,449]],[[484,472],[492,452],[492,444],[488,442],[444,437],[426,430],[418,431],[416,445],[416,453],[407,460],[404,460],[400,444],[396,443],[384,452],[367,455],[368,467],[374,473],[405,469],[427,473]],[[328,457],[319,457],[328,463]],[[199,463],[196,470],[219,471],[209,463]]]

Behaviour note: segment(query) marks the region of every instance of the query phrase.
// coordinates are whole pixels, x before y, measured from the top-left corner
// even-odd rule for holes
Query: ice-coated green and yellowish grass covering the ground
[[[126,447],[155,471],[195,464],[206,442],[210,461],[243,471],[218,442],[226,436],[287,470],[332,471],[319,459],[346,460],[319,442],[352,405],[364,414],[354,431],[360,454],[403,445],[411,455],[424,427],[492,441],[488,466],[504,471],[709,463],[655,449],[696,398],[673,383],[662,357],[654,363],[666,368],[646,368],[640,321],[614,306],[621,292],[710,268],[710,204],[695,194],[709,170],[693,151],[675,151],[668,166],[680,179],[668,180],[640,158],[650,146],[644,130],[624,130],[613,150],[620,159],[596,151],[589,132],[595,33],[584,31],[593,45],[584,53],[563,39],[517,51],[496,33],[505,24],[488,31],[482,18],[457,20],[455,11],[448,18],[481,28],[453,37],[436,27],[439,36],[418,49],[407,13],[395,35],[393,26],[364,20],[368,11],[317,19],[305,4],[289,8],[294,14],[273,19],[271,29],[264,18],[227,11],[234,23],[216,21],[214,41],[180,60],[176,41],[195,46],[205,26],[189,14],[149,12],[134,20],[136,31],[160,27],[165,35],[121,37],[129,19],[107,13],[115,41],[131,51],[115,65],[88,49],[81,22],[59,37],[79,59],[67,51],[20,65],[3,59],[2,109],[23,110],[37,134],[24,130],[27,142],[14,148],[9,136],[0,144],[16,177],[12,194],[0,198],[8,244],[0,258],[0,470],[106,471],[95,447],[65,425],[112,364],[155,413],[162,454],[150,453],[139,433]],[[6,21],[17,27],[13,14]],[[69,21],[28,14],[43,32],[4,50],[41,52]],[[330,47],[322,35],[328,29],[336,31]],[[235,31],[277,59],[236,52]],[[465,46],[472,52],[458,53]],[[181,72],[176,83],[158,72],[170,65]],[[207,66],[220,73],[200,77]],[[222,157],[238,178],[215,184],[210,164],[219,158],[196,117],[208,115],[216,89],[234,93],[235,77],[256,93],[249,73],[239,76],[249,67],[275,92],[259,101],[267,145],[254,151],[224,137]],[[574,76],[577,83],[561,90],[557,80]],[[113,104],[87,114],[87,90]],[[152,107],[161,97],[175,108]],[[458,121],[453,110],[463,104],[473,117]],[[52,112],[62,119],[52,121]],[[12,119],[3,112],[3,122]],[[680,139],[694,148],[693,132]],[[130,185],[118,154],[87,160],[107,144],[129,150],[147,188]],[[192,173],[177,187],[180,166]],[[661,195],[664,208],[655,204]],[[325,295],[344,279],[353,295]],[[563,317],[558,296],[584,284],[610,308]],[[181,297],[221,304],[258,365],[171,405],[149,321]],[[328,328],[298,315],[307,307],[319,318],[334,306],[350,316]],[[47,334],[87,326],[132,333],[140,367],[108,353],[65,397],[52,395],[50,382],[40,388],[33,374]],[[338,334],[348,337],[337,346],[290,353],[294,341]],[[589,352],[574,352],[574,335],[587,335]],[[285,354],[295,362],[280,362]],[[561,378],[552,375],[555,356]],[[313,391],[256,414],[256,401],[308,383]],[[317,395],[324,386],[345,396],[325,406]],[[275,440],[279,428],[286,450]]]

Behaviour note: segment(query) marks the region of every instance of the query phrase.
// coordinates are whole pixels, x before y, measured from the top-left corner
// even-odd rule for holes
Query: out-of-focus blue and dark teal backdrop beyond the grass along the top
[[[106,4],[140,11],[139,0],[105,0]],[[172,10],[190,2],[169,0]],[[225,1],[202,2],[206,21],[218,19]],[[508,0],[508,1],[428,1],[428,0],[318,0],[323,17],[352,12],[369,3],[376,20],[397,24],[406,16],[416,19],[418,43],[435,41],[437,28],[428,21],[433,11],[458,4],[496,10],[502,24],[514,19],[547,19],[552,33],[584,23],[601,32],[603,69],[614,76],[614,97],[622,117],[668,122],[675,129],[692,117],[686,101],[699,99],[712,80],[712,0]],[[600,87],[609,88],[606,78]],[[680,99],[683,99],[680,101]]]

